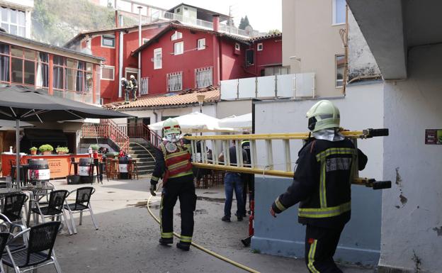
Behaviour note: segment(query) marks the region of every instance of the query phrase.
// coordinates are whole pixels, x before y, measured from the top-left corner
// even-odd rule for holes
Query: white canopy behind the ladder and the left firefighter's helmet
[[[219,119],[204,113],[194,112],[176,117],[183,133],[200,132],[233,132],[233,128],[223,128],[219,126]],[[149,125],[150,130],[162,130],[164,121]]]

